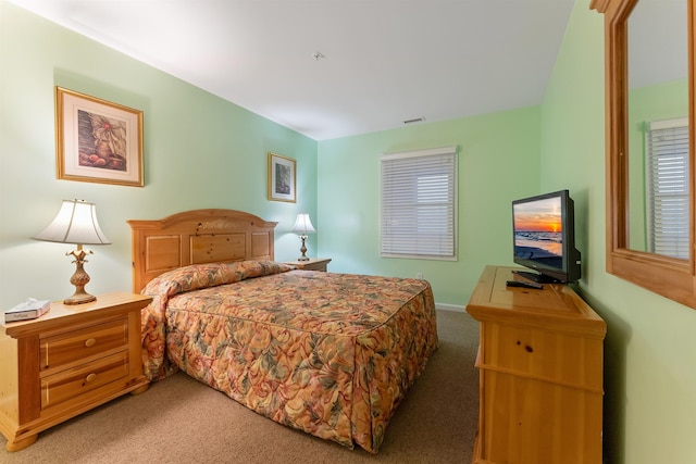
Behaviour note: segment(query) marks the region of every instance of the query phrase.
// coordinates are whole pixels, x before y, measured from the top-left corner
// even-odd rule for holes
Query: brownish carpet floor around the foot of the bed
[[[262,417],[178,373],[39,435],[0,463],[470,463],[478,414],[478,326],[438,311],[439,349],[380,453],[349,450]]]

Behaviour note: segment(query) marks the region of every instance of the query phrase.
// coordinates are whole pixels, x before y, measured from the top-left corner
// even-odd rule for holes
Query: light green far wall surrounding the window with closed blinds
[[[380,155],[458,147],[458,260],[380,256]],[[467,303],[486,264],[512,264],[511,201],[539,189],[539,109],[464,117],[319,143],[320,254],[334,272],[415,277],[439,304]]]

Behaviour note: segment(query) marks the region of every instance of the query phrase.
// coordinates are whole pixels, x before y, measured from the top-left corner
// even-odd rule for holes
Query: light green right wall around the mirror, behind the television
[[[576,192],[581,291],[608,326],[606,462],[694,463],[696,311],[605,272],[604,16],[588,5],[575,3],[542,105],[542,186]]]

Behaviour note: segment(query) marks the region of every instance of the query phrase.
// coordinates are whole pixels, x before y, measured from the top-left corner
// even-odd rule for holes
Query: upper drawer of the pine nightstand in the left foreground
[[[40,368],[59,367],[117,348],[125,350],[127,344],[127,318],[42,338]]]

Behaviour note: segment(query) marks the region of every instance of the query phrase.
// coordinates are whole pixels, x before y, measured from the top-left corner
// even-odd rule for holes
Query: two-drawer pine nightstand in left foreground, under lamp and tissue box
[[[8,451],[127,392],[147,390],[140,309],[150,297],[108,293],[51,303],[41,317],[0,326],[0,431]]]

